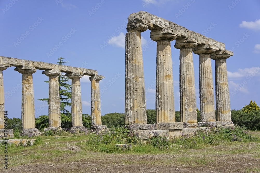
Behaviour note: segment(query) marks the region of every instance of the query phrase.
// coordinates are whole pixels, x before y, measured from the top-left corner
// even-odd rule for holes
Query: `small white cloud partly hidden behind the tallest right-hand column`
[[[108,44],[112,44],[115,47],[121,47],[121,48],[125,48],[125,43],[126,43],[126,36],[122,32],[118,36],[114,36],[108,41]],[[147,40],[144,39],[144,37],[142,36],[141,36],[141,43],[142,46],[145,46],[147,44]]]

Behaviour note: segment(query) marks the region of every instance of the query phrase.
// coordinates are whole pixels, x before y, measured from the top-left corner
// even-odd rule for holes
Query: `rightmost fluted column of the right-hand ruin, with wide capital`
[[[216,73],[216,111],[218,121],[231,121],[230,97],[226,59],[233,56],[228,50],[219,50],[211,54],[215,60]]]

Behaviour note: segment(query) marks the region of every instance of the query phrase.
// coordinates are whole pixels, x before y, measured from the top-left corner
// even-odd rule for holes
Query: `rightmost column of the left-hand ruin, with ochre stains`
[[[105,78],[101,75],[92,75],[91,81],[91,120],[92,126],[102,125],[99,81]]]

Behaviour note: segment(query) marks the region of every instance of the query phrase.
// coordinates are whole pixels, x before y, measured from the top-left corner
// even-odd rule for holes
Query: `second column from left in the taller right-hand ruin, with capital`
[[[156,56],[156,122],[175,123],[171,41],[176,35],[167,29],[152,30],[150,37],[157,42]]]

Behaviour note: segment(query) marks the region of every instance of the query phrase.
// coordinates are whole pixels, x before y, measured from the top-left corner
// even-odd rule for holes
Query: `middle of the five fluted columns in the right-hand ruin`
[[[195,79],[192,48],[197,43],[177,39],[175,48],[180,49],[180,118],[181,122],[197,123]],[[196,126],[196,125],[193,125]]]

